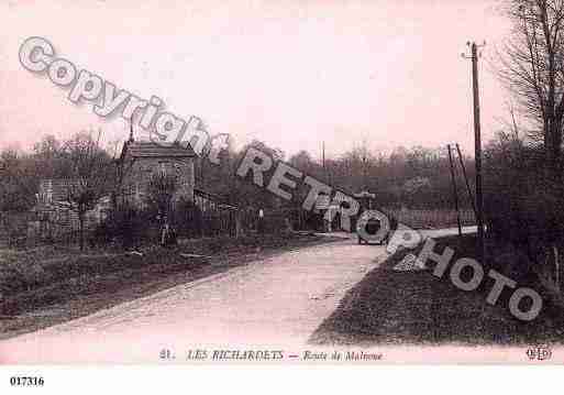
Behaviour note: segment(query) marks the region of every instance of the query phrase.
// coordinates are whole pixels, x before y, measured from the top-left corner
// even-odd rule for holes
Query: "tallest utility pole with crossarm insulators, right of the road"
[[[478,227],[477,259],[482,264],[486,257],[484,242],[484,196],[482,191],[482,135],[479,124],[479,89],[478,89],[478,45],[476,43],[467,43],[471,47],[472,55],[472,91],[474,96],[474,160],[476,164],[476,222]],[[486,43],[484,42],[484,45]],[[480,46],[484,46],[480,45]],[[463,54],[464,57],[466,57]]]

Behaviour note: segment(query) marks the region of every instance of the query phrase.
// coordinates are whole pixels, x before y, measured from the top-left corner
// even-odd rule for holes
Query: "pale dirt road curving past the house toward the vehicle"
[[[286,252],[0,343],[0,363],[158,362],[170,348],[302,345],[386,257],[355,239]]]

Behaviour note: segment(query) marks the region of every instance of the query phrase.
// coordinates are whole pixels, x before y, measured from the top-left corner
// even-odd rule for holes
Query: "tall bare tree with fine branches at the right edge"
[[[533,124],[532,140],[557,174],[564,120],[564,0],[506,0],[512,35],[500,52],[499,76],[521,114]]]

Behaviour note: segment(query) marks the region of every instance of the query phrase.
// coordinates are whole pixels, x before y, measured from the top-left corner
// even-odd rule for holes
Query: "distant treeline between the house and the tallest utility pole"
[[[452,209],[453,188],[446,146],[427,149],[397,147],[391,153],[357,147],[341,155],[325,157],[324,164],[307,151],[286,155],[281,150],[270,147],[261,141],[253,141],[240,151],[222,152],[221,164],[199,161],[197,185],[217,194],[228,196],[233,205],[273,207],[299,205],[309,191],[308,186],[298,183],[294,191],[295,201],[281,202],[268,191],[262,190],[250,180],[235,177],[235,168],[250,147],[269,153],[275,160],[285,161],[303,174],[323,182],[334,189],[356,194],[367,189],[376,195],[379,207],[408,209]],[[457,190],[461,208],[472,208],[460,162],[454,156],[457,172]],[[464,157],[471,188],[474,188],[474,162]]]

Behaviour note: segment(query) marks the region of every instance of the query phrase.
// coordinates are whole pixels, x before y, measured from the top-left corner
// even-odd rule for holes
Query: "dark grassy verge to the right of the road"
[[[472,237],[441,239],[436,250],[442,251],[445,245],[456,251],[452,262],[475,255]],[[310,342],[530,344],[564,339],[562,311],[550,300],[545,300],[537,319],[524,322],[509,312],[510,293],[504,293],[495,306],[486,303],[493,279],[485,279],[476,290],[464,292],[452,285],[449,272],[438,278],[432,267],[418,272],[392,270],[405,255],[417,254],[419,249],[398,252],[368,273],[321,323]],[[531,284],[519,284],[522,285]]]

